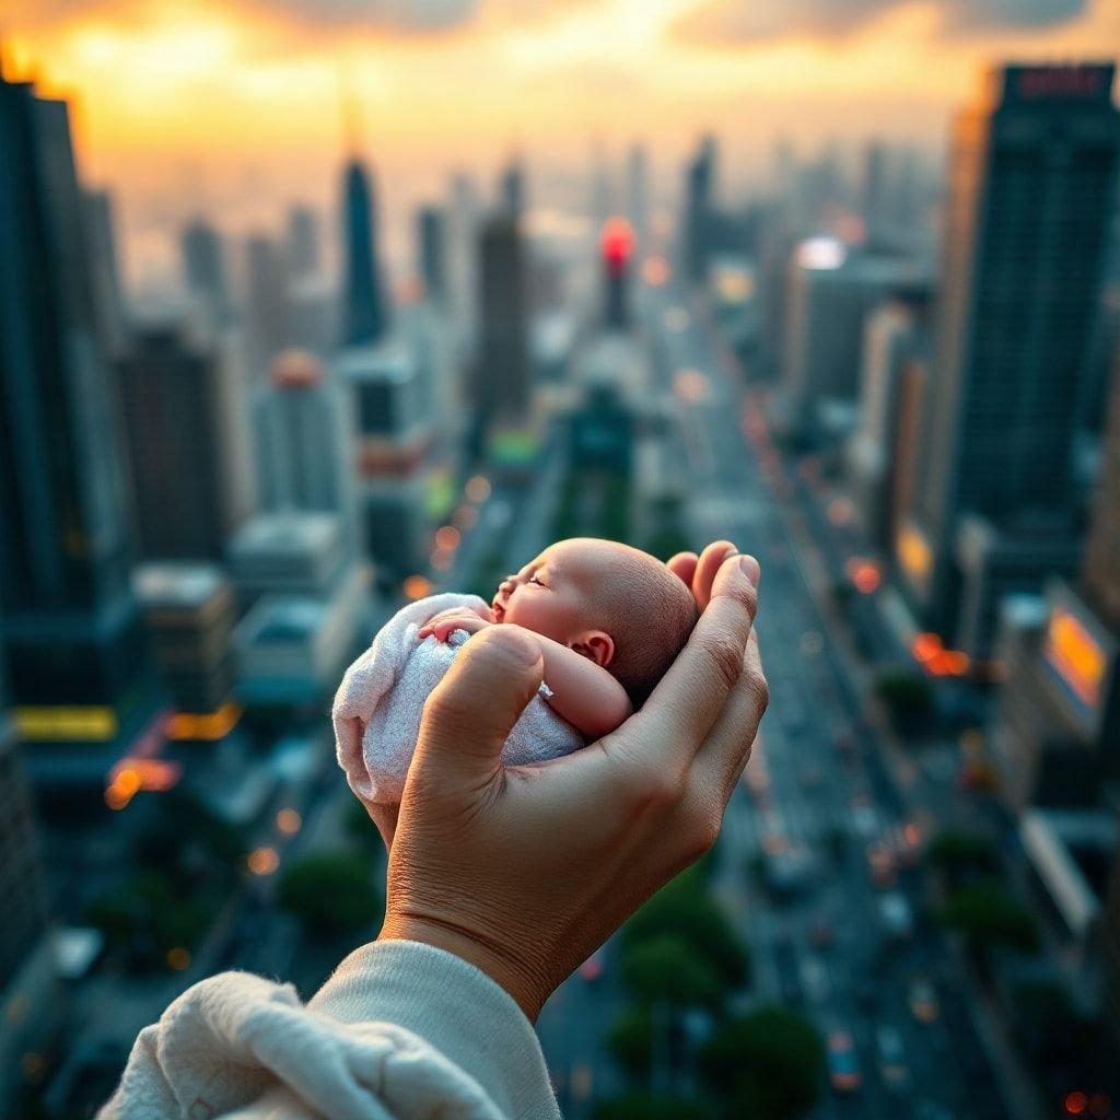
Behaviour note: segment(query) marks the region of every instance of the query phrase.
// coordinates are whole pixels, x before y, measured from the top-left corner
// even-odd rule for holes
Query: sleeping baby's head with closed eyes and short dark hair
[[[516,623],[606,669],[635,708],[692,633],[692,592],[660,560],[616,541],[576,538],[547,548],[502,581],[495,622]]]

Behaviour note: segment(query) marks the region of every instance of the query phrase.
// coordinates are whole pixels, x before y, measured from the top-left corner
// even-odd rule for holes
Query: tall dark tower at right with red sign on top
[[[974,655],[990,600],[1037,589],[1055,539],[1076,535],[1072,444],[1120,146],[1112,75],[997,69],[953,133],[928,484],[898,547],[927,628],[955,637],[972,582]],[[962,562],[965,515],[987,528]]]

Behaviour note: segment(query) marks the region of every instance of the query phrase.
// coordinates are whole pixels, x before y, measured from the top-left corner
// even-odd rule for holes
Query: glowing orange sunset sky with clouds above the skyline
[[[390,207],[514,147],[547,178],[643,139],[672,187],[704,128],[731,185],[782,132],[936,151],[988,63],[1120,54],[1120,0],[0,0],[0,43],[136,233],[327,202],[343,83]]]

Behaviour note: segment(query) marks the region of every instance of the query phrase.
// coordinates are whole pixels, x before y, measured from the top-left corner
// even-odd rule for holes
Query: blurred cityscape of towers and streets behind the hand
[[[391,225],[351,106],[329,209],[199,193],[171,283],[0,77],[0,1111],[372,936],[343,669],[603,535],[758,556],[773,702],[713,858],[545,1009],[566,1116],[1120,1117],[1113,77],[734,185],[717,131],[559,190],[526,143]]]

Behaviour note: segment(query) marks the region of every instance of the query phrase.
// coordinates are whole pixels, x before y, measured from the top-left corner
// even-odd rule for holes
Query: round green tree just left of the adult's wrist
[[[292,864],[281,876],[279,903],[309,928],[325,933],[352,933],[374,925],[382,915],[368,857],[347,850]]]

